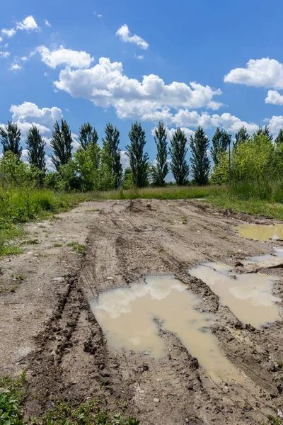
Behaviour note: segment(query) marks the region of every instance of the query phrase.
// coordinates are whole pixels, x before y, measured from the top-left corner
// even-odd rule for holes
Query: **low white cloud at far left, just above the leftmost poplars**
[[[12,105],[10,112],[13,114],[14,122],[39,123],[51,127],[56,120],[60,120],[63,115],[60,108],[38,108],[35,103],[24,102],[21,105]]]

